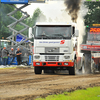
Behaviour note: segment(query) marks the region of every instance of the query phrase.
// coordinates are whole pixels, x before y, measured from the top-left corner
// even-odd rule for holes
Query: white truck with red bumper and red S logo
[[[69,70],[75,75],[75,23],[36,23],[33,65],[35,74],[42,70]]]

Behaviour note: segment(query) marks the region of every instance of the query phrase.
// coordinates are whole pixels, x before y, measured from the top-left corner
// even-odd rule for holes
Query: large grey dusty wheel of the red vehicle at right
[[[82,62],[82,70],[84,69],[84,74],[91,73],[91,54],[85,54]],[[83,71],[82,71],[83,72]]]

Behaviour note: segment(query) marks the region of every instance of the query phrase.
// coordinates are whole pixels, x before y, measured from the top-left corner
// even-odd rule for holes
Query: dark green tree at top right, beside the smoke
[[[92,26],[92,24],[100,24],[100,3],[85,2],[85,7],[88,8],[88,13],[84,17],[85,26]]]

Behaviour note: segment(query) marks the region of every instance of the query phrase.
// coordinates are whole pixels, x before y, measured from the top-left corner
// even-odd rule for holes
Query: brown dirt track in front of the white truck
[[[0,70],[0,100],[34,100],[92,86],[100,86],[100,74],[35,75],[33,68]]]

